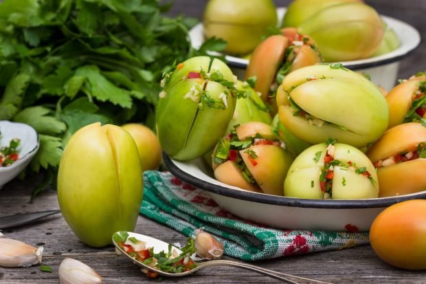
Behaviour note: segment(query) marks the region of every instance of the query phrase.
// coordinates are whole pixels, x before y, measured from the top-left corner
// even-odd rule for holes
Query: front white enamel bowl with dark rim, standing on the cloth
[[[212,170],[201,159],[179,162],[164,154],[164,162],[170,173],[208,191],[212,199],[225,210],[243,219],[281,229],[368,231],[374,218],[386,207],[409,199],[426,199],[426,190],[399,197],[357,200],[267,195],[218,182]]]

